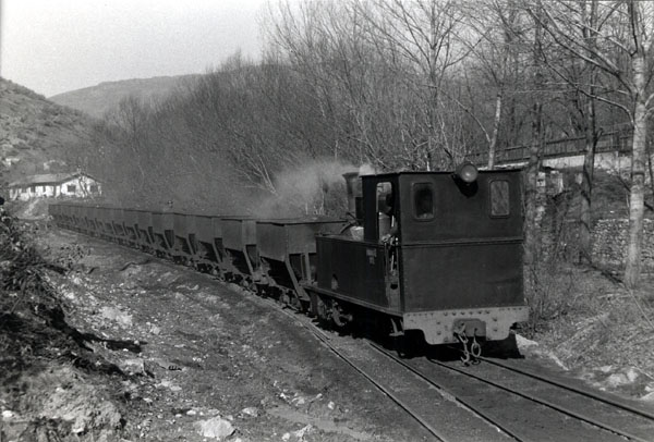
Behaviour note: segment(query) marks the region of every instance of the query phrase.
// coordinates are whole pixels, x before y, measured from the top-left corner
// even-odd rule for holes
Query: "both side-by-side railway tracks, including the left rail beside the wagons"
[[[366,341],[393,367],[356,355],[347,343],[335,344],[329,333],[307,318],[269,303],[299,320],[436,440],[654,441],[654,410],[631,401],[520,364],[486,357],[480,358],[481,365],[468,367],[458,360],[401,359],[393,351]]]

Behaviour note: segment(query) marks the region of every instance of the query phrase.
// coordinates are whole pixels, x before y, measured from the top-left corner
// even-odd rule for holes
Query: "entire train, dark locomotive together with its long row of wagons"
[[[519,170],[343,175],[352,222],[82,204],[63,228],[192,265],[334,327],[372,323],[429,345],[504,340],[528,319]]]

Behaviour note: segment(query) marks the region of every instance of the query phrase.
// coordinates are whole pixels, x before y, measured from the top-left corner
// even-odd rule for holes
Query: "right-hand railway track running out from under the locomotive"
[[[514,440],[654,441],[652,410],[569,380],[489,358],[469,367],[434,358],[401,360],[372,345]]]

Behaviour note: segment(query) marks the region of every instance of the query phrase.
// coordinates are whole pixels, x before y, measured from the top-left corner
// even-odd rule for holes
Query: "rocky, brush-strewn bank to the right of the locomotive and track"
[[[654,402],[654,278],[630,291],[588,267],[556,277],[568,281],[558,293],[565,307],[530,333],[522,353],[596,389]]]

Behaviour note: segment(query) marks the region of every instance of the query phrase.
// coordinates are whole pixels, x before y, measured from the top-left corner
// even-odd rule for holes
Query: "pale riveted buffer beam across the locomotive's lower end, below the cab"
[[[403,314],[404,330],[421,330],[431,345],[457,342],[456,332],[463,326],[467,336],[485,336],[486,341],[508,337],[516,322],[526,321],[525,306],[467,308]]]

